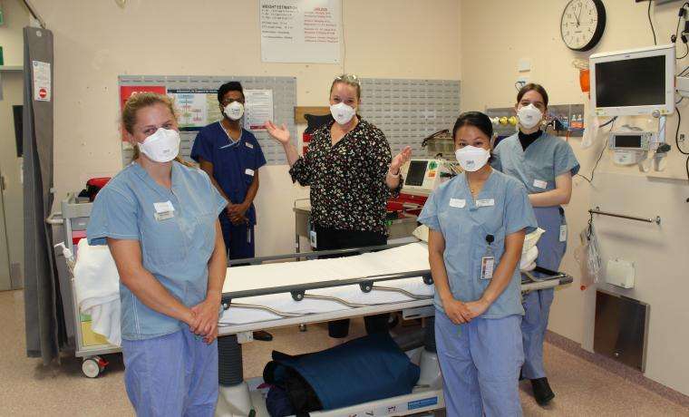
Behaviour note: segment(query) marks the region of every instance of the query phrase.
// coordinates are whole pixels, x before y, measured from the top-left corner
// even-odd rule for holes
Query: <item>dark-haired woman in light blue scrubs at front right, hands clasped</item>
[[[490,160],[490,119],[462,113],[452,131],[464,172],[436,189],[419,221],[430,228],[435,339],[450,416],[521,415],[521,278],[536,218],[524,186]]]

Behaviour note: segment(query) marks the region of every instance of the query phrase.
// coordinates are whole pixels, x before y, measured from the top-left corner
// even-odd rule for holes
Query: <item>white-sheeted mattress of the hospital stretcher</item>
[[[337,281],[367,276],[408,273],[428,270],[428,247],[416,242],[402,247],[393,247],[380,252],[365,253],[354,257],[315,259],[303,262],[282,262],[278,264],[252,265],[228,268],[223,293],[250,291],[267,286],[302,286],[323,281]],[[421,276],[384,281],[375,286],[403,289],[413,296],[433,296],[433,286],[423,282]],[[402,293],[373,289],[364,293],[358,285],[332,286],[306,291],[310,296],[337,297],[356,305],[382,305],[412,301],[412,296]],[[328,313],[351,306],[333,300],[306,297],[295,301],[290,293],[267,296],[249,296],[232,300],[232,305],[220,318],[226,325],[242,325],[281,318],[280,315],[256,308],[239,305],[261,305],[291,314]]]

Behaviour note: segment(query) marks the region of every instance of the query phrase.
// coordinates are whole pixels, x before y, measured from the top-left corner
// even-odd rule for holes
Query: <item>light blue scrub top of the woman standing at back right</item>
[[[543,133],[526,150],[515,133],[498,143],[493,150],[493,168],[519,179],[529,194],[555,189],[555,179],[566,172],[579,171],[579,162],[569,143]]]

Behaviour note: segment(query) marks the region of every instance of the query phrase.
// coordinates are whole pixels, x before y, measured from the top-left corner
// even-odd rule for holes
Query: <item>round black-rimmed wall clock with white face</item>
[[[606,9],[600,0],[571,0],[560,20],[560,34],[569,49],[593,48],[606,27]]]

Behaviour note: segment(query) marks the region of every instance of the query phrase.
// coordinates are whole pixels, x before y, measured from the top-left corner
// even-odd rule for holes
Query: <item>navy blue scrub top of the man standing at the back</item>
[[[233,204],[244,201],[256,171],[266,165],[266,157],[256,136],[242,129],[239,141],[231,141],[220,126],[211,123],[199,131],[191,148],[191,158],[200,158],[213,164],[213,177]],[[256,224],[254,205],[247,210],[249,225]]]

